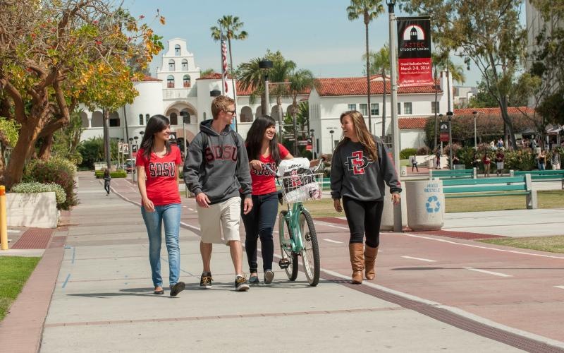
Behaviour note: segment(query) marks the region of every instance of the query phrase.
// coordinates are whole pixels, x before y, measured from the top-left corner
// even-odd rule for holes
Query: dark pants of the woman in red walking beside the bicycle
[[[241,203],[243,207],[243,203]],[[257,240],[260,237],[263,270],[272,270],[272,258],[274,257],[274,241],[272,232],[276,215],[278,215],[278,193],[267,193],[266,195],[252,196],[252,209],[247,215],[243,214],[245,224],[245,251],[249,261],[250,273],[257,272]]]

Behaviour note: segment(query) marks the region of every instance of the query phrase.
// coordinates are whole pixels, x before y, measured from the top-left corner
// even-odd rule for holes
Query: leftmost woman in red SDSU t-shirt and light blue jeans
[[[168,251],[171,297],[184,290],[180,275],[181,202],[178,192],[178,169],[182,164],[180,150],[168,142],[170,122],[163,115],[151,116],[137,151],[137,186],[141,193],[141,214],[149,236],[149,263],[151,264],[154,294],[164,294],[161,277],[161,225]]]

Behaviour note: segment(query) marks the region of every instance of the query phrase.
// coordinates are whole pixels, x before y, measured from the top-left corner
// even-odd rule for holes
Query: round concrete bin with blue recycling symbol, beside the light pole
[[[443,181],[407,181],[407,225],[412,230],[440,230],[444,223]]]

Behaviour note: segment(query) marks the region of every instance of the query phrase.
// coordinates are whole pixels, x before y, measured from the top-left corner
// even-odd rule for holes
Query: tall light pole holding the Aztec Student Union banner
[[[393,13],[396,6],[396,0],[386,0],[388,5],[389,25],[390,25],[390,85],[391,85],[391,123],[392,123],[392,155],[393,165],[396,167],[396,174],[398,181],[400,180],[400,130],[398,126],[398,85],[396,81],[396,14]],[[370,107],[369,107],[370,108]],[[401,214],[401,200],[397,205],[393,206],[393,231],[402,231],[402,214]]]

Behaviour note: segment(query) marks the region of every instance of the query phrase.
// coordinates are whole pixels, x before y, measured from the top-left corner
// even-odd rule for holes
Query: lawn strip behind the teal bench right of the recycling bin
[[[539,208],[564,207],[564,191],[538,191]],[[525,210],[525,195],[523,196],[492,196],[482,198],[448,198],[446,212]]]

